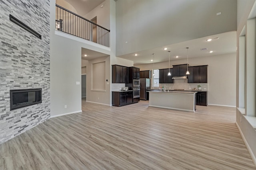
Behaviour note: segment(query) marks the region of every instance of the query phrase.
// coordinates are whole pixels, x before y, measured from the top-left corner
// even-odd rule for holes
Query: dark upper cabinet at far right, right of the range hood
[[[207,83],[207,68],[208,65],[188,67],[188,83]]]

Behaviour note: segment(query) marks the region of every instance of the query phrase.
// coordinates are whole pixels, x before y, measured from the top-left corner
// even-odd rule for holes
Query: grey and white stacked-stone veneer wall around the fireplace
[[[0,144],[50,117],[50,0],[0,0]],[[16,17],[38,39],[9,20]],[[42,88],[42,104],[10,111],[10,90]]]

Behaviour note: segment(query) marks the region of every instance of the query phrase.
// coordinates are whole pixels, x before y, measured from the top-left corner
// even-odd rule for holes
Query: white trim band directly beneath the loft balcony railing
[[[68,33],[64,33],[62,31],[58,31],[58,30],[55,30],[55,35],[59,35],[59,36],[62,36],[62,37],[66,37],[66,38],[69,38],[69,39],[73,39],[75,41],[78,41],[78,42],[81,42],[81,43],[86,43],[86,44],[89,44],[89,45],[92,45],[94,47],[99,47],[101,49],[104,49],[104,50],[107,50],[107,51],[111,51],[111,48],[110,47],[106,47],[104,45],[100,45],[98,43],[94,43],[92,41],[89,41],[87,39],[83,39],[83,38],[80,38],[80,37],[76,37],[74,35],[71,35],[71,34],[68,34]]]

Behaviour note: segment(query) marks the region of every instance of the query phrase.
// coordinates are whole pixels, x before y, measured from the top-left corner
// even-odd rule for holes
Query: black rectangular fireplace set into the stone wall
[[[10,90],[10,110],[42,103],[42,89]]]

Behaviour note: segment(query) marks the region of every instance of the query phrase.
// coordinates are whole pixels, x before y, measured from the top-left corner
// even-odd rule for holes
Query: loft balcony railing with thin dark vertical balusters
[[[110,30],[56,4],[56,30],[109,47]]]

